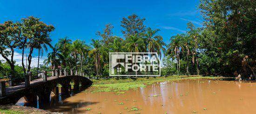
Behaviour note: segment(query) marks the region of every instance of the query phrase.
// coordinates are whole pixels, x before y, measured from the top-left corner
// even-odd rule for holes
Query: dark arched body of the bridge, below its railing
[[[65,75],[65,73],[62,73]],[[47,77],[47,76],[46,76]],[[57,88],[57,84],[61,84],[61,96],[66,95],[69,96],[69,92],[71,90],[70,82],[74,82],[74,91],[84,90],[92,85],[92,81],[90,81],[87,77],[84,76],[51,76],[47,77],[47,79],[38,79],[34,81],[30,81],[30,86],[25,86],[25,83],[20,83],[17,86],[7,87],[6,95],[0,96],[0,105],[13,103],[15,104],[20,98],[24,97],[26,101],[38,101],[40,103],[49,103],[50,95],[53,92],[54,94],[58,94],[59,90]],[[81,89],[79,85],[81,84]]]

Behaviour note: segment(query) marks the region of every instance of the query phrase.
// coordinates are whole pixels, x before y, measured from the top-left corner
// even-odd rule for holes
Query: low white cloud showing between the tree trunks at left
[[[28,55],[27,55],[27,56],[28,56]],[[9,56],[8,58],[11,59],[10,56]],[[15,64],[21,66],[21,64],[22,64],[21,58],[22,58],[22,54],[21,54],[21,53],[18,53],[18,52],[16,52],[16,51],[14,51],[13,60],[16,61]],[[44,61],[45,59],[47,59],[47,57],[44,57],[44,56],[43,56],[43,57],[40,57],[39,64],[43,64],[43,61]],[[2,56],[0,56],[0,60],[4,60],[4,61],[5,61],[5,59],[4,59]],[[30,65],[30,66],[31,66],[31,67],[37,67],[37,63],[38,63],[38,56],[32,57],[31,65]],[[26,66],[26,55],[25,55],[25,54],[24,54],[24,64],[25,64],[25,66]],[[28,64],[28,61],[27,61],[27,64]]]

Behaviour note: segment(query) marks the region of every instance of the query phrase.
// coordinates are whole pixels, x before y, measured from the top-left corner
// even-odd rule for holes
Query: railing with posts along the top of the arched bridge
[[[37,80],[42,78],[42,80],[45,82],[47,81],[47,77],[54,76],[58,78],[59,76],[84,76],[84,73],[81,73],[77,70],[67,70],[67,69],[55,69],[55,70],[41,70],[41,71],[35,71],[35,72],[27,72],[24,74],[17,74],[15,75],[15,78],[13,76],[5,76],[0,78],[0,97],[3,97],[6,95],[6,86],[7,83],[9,86],[14,86],[14,82],[24,82],[25,87],[30,86],[30,82],[33,80]]]

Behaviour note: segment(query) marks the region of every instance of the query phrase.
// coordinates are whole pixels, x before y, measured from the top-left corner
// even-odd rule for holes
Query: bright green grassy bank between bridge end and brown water
[[[96,92],[110,92],[115,91],[116,94],[122,94],[124,91],[129,89],[137,89],[137,88],[144,88],[149,84],[153,84],[155,82],[164,82],[164,81],[177,81],[182,79],[218,79],[222,77],[213,77],[213,76],[167,76],[167,77],[143,77],[137,79],[102,79],[102,80],[95,80],[93,84],[93,90],[91,93]]]

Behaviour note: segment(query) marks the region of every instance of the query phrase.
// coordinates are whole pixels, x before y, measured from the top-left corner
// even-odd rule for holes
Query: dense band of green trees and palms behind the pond
[[[0,76],[42,69],[76,69],[87,76],[108,76],[109,52],[157,52],[162,58],[162,75],[238,76],[243,80],[256,76],[256,1],[201,0],[202,27],[187,24],[187,32],[170,36],[163,42],[159,29],[145,25],[146,19],[132,14],[121,19],[123,38],[115,36],[113,25],[96,32],[101,40],[72,41],[60,38],[52,44],[54,26],[39,18],[0,24]],[[51,52],[47,52],[51,48]],[[14,50],[22,51],[21,66],[15,65]],[[28,50],[27,58],[24,52]],[[34,50],[47,52],[44,64],[31,67]],[[27,59],[27,65],[25,65]],[[26,67],[27,66],[27,67]]]

